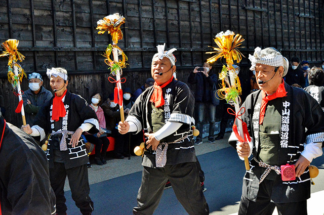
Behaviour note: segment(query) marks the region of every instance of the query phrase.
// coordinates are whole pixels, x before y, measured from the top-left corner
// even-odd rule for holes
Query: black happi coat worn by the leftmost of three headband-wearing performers
[[[41,134],[41,140],[45,138],[46,134],[56,132],[53,130],[54,121],[51,120],[53,99],[54,97],[42,106],[41,110],[39,110],[39,112],[37,113],[36,119],[34,121],[34,127]],[[76,94],[71,94],[69,91],[67,91],[65,95],[64,106],[67,116],[63,117],[62,130],[75,132],[81,124],[88,122],[94,125],[90,129],[90,131],[88,131],[88,133],[96,134],[99,132],[97,115],[84,98]],[[64,120],[67,122],[65,128]],[[69,138],[66,139],[67,144],[70,142],[70,137],[71,136],[69,135]],[[82,137],[80,137],[78,145],[75,148],[71,148],[70,145],[67,145],[67,148],[68,150],[62,151],[64,153],[63,159],[66,169],[84,165],[89,162],[88,154],[86,152],[86,145]],[[54,159],[51,139],[48,143],[47,158],[50,162],[50,168],[53,168]]]

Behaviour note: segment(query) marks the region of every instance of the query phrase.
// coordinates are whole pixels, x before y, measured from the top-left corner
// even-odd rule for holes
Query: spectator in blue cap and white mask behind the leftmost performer
[[[22,100],[24,101],[26,123],[30,126],[33,125],[38,110],[53,97],[51,91],[46,90],[42,85],[41,74],[33,72],[28,75],[29,89],[22,95]]]

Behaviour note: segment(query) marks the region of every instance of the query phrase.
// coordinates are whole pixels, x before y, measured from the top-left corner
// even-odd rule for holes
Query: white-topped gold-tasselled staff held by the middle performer
[[[117,44],[118,40],[123,39],[123,32],[120,30],[120,25],[125,23],[125,18],[120,16],[118,13],[104,17],[97,22],[97,29],[100,30],[98,34],[103,34],[106,31],[111,35],[113,45],[109,44],[104,56],[105,63],[109,66],[111,74],[116,76],[116,79],[109,77],[108,80],[112,83],[116,83],[114,89],[114,103],[118,103],[120,109],[121,121],[125,121],[124,117],[124,107],[123,107],[123,91],[121,90],[121,83],[125,83],[126,78],[121,78],[120,75],[123,74],[122,68],[126,68],[127,56],[121,50]],[[112,52],[113,60],[110,59],[110,54]],[[121,55],[122,59],[119,60],[118,56]],[[123,80],[124,79],[124,80]]]

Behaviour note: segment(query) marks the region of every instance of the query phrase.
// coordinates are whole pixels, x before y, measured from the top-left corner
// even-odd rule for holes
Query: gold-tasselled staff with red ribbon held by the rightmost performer
[[[244,41],[244,39],[241,35],[235,35],[234,32],[227,30],[225,33],[223,31],[218,33],[214,41],[218,48],[212,48],[214,48],[216,52],[207,52],[207,54],[217,54],[209,58],[208,63],[213,63],[219,58],[225,58],[227,64],[227,67],[224,65],[221,73],[219,74],[219,78],[222,80],[222,88],[218,90],[217,93],[221,99],[226,99],[228,104],[231,104],[235,107],[238,129],[234,123],[233,131],[238,140],[241,142],[251,142],[247,126],[245,122],[242,122],[239,115],[239,95],[241,95],[242,90],[237,76],[239,68],[236,65],[233,65],[234,60],[239,63],[242,59],[242,54],[237,50],[237,48],[240,48],[241,43]],[[245,157],[244,161],[246,169],[249,170],[250,165],[248,157]]]

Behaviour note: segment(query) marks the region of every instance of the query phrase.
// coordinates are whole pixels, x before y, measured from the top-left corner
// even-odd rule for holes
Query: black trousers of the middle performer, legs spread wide
[[[188,214],[209,214],[209,207],[200,188],[196,162],[166,165],[163,168],[144,166],[142,184],[137,195],[133,214],[153,214],[170,180],[177,199]]]

